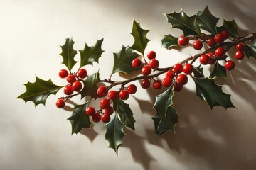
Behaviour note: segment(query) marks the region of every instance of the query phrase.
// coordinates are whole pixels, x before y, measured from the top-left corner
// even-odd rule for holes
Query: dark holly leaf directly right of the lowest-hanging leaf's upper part
[[[120,98],[113,101],[114,111],[118,113],[119,117],[121,118],[122,123],[125,126],[135,130],[134,128],[134,118],[131,108],[129,104],[124,103]]]

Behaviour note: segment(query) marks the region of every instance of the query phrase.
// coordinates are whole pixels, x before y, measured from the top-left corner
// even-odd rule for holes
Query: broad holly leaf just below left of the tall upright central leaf
[[[122,50],[118,53],[114,53],[114,66],[112,74],[115,72],[123,72],[125,74],[131,74],[133,71],[137,71],[140,68],[132,67],[132,60],[139,57],[139,55],[129,47],[122,46]]]

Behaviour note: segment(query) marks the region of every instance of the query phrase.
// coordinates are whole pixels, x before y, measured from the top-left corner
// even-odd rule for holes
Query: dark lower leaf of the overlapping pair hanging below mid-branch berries
[[[161,118],[161,116],[156,113],[152,119],[154,120],[155,132],[158,135],[164,133],[165,130],[171,130],[171,132],[175,132],[175,125],[178,123],[178,113],[176,108],[169,106],[166,112],[166,117]]]

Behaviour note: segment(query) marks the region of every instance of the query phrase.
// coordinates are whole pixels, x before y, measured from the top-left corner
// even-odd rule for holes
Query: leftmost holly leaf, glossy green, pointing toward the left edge
[[[25,102],[32,101],[36,106],[38,104],[45,105],[48,96],[51,94],[55,95],[57,91],[62,88],[62,86],[53,84],[51,79],[46,81],[38,77],[36,77],[36,81],[34,83],[28,82],[24,85],[26,86],[26,91],[17,98],[21,98]]]

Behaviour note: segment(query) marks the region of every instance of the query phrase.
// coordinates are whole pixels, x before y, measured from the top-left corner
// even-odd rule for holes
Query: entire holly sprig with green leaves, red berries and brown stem
[[[122,144],[124,128],[135,130],[133,112],[129,104],[124,102],[137,92],[134,81],[140,81],[142,89],[148,89],[150,86],[155,90],[166,89],[164,93],[156,96],[153,106],[156,114],[152,120],[158,135],[166,131],[175,132],[178,111],[174,107],[173,98],[186,85],[188,77],[191,77],[196,84],[196,95],[206,101],[211,109],[214,106],[234,108],[230,94],[223,92],[222,86],[216,84],[215,80],[227,79],[226,72],[235,68],[233,60],[242,60],[245,56],[256,59],[256,34],[238,35],[238,25],[234,20],[224,20],[222,26],[217,26],[219,18],[213,16],[208,7],[193,16],[180,11],[167,13],[166,18],[171,23],[171,28],[182,30],[183,35],[178,37],[171,34],[164,35],[161,40],[162,47],[171,50],[174,47],[187,47],[192,43],[198,54],[169,67],[159,67],[156,52],[151,50],[145,55],[145,49],[150,41],[147,38],[149,30],[142,29],[140,23],[134,20],[131,33],[134,38],[133,45],[123,46],[119,52],[113,54],[114,64],[109,78],[100,79],[100,72],[87,75],[87,70],[84,68],[86,65],[92,65],[93,62],[99,62],[104,52],[103,39],[97,40],[91,47],[85,44],[83,50],[76,51],[73,49],[75,44],[73,39],[67,38],[65,44],[60,46],[62,63],[66,69],[60,70],[59,77],[66,79],[68,84],[58,86],[50,79],[46,81],[36,77],[34,83],[25,84],[26,91],[18,98],[26,102],[33,101],[36,106],[44,105],[48,96],[55,95],[63,89],[65,96],[58,98],[56,106],[65,108],[66,101],[70,98],[80,95],[83,99],[87,96],[84,104],[73,106],[73,113],[68,118],[72,125],[72,134],[80,132],[82,128],[91,128],[92,122],[97,123],[102,120],[103,123],[107,123],[105,138],[110,143],[109,147],[115,152]],[[233,48],[236,50],[235,56],[230,56],[228,51]],[[75,60],[75,55],[80,55],[79,61]],[[199,65],[196,65],[197,60]],[[77,72],[72,72],[77,63],[80,64],[79,69]],[[209,64],[213,65],[214,69],[210,76],[206,77],[203,74],[203,67]],[[113,81],[112,74],[118,72],[125,74],[141,72],[141,75],[135,77],[130,75],[129,79]],[[161,74],[165,77],[159,80]],[[104,85],[100,85],[102,83]],[[113,90],[115,86],[118,90]],[[92,100],[93,98],[96,101]],[[90,106],[92,101],[100,101],[99,108]]]

